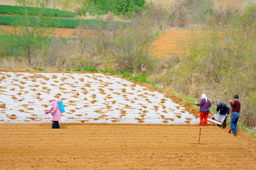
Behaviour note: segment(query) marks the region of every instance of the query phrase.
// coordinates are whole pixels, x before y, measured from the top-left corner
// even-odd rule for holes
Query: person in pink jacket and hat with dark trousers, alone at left
[[[50,105],[52,105],[52,107],[45,114],[48,114],[51,111],[53,111],[52,112],[53,128],[60,128],[59,121],[61,119],[62,113],[61,113],[58,101],[56,101],[55,97],[53,96],[51,96],[49,100],[51,101]]]

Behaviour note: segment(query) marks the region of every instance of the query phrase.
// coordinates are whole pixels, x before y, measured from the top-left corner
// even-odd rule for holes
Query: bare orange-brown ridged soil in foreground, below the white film
[[[216,126],[0,124],[1,170],[256,170],[256,139]]]

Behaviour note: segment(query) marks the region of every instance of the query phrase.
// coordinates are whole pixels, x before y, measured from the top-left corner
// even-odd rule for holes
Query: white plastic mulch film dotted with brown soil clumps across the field
[[[0,123],[46,123],[55,96],[60,122],[197,124],[199,119],[164,94],[101,73],[0,72]]]

